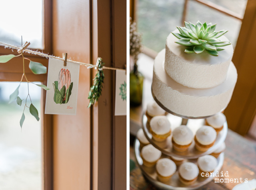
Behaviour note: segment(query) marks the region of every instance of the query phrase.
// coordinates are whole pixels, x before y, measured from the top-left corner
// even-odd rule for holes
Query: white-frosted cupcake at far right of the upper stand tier
[[[226,122],[226,116],[219,113],[215,116],[206,118],[206,125],[212,126],[217,134],[223,129],[223,124]]]

